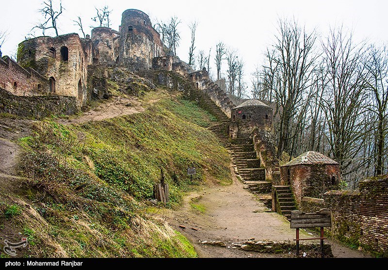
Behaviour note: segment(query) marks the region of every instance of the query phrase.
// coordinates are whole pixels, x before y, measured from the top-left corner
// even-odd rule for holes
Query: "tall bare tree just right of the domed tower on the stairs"
[[[277,157],[286,151],[293,155],[296,136],[304,120],[314,62],[316,36],[301,29],[295,20],[278,20],[278,33],[273,50],[267,49],[264,65],[264,83],[271,88],[279,122],[277,134]]]

